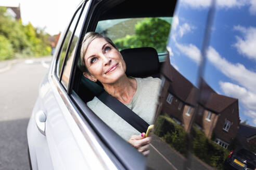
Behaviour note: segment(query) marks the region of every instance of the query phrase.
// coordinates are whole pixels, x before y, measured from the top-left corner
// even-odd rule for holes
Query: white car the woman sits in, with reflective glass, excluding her
[[[31,168],[223,169],[229,149],[254,145],[254,53],[244,49],[254,37],[254,6],[212,2],[82,1],[59,38],[28,124]],[[162,79],[148,157],[86,105],[104,92],[78,68],[91,31],[113,40],[128,76]],[[244,140],[237,134],[247,118]]]

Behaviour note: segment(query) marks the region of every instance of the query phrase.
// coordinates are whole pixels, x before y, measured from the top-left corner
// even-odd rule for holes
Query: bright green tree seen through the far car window
[[[125,48],[153,47],[165,52],[171,24],[159,18],[145,18],[135,25],[135,35],[126,35],[114,41],[122,50]]]

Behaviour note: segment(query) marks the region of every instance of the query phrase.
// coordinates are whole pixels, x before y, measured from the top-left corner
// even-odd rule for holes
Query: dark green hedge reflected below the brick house
[[[159,116],[155,124],[154,133],[178,152],[186,154],[188,150],[188,134],[182,126],[176,124],[170,117]],[[191,138],[191,152],[196,157],[212,167],[223,169],[223,164],[229,154],[229,150],[215,144],[195,127],[191,131]]]

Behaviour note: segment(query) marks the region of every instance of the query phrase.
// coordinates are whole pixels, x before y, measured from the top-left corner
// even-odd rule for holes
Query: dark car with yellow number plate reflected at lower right
[[[225,161],[226,169],[256,169],[256,154],[247,150],[239,149],[231,151]]]

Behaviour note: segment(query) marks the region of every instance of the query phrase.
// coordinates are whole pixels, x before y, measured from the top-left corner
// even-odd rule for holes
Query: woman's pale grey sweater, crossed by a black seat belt
[[[132,109],[148,124],[152,124],[158,102],[161,80],[152,77],[135,79],[137,81],[137,89],[132,98],[132,102],[126,104],[126,106]],[[128,140],[132,135],[140,135],[133,126],[118,116],[97,97],[89,101],[87,106],[123,139]]]

